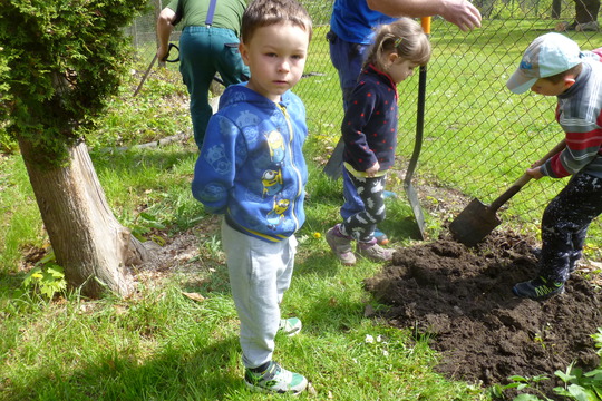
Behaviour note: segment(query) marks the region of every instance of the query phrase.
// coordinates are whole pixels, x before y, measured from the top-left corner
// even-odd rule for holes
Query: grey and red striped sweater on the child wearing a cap
[[[542,166],[542,174],[602,178],[602,62],[585,59],[575,84],[557,98],[556,120],[566,135],[566,148]]]

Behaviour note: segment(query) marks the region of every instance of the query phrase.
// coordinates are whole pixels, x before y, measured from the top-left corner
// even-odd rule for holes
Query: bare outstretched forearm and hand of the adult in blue
[[[463,31],[480,27],[480,12],[467,0],[367,0],[367,3],[390,17],[441,16]]]

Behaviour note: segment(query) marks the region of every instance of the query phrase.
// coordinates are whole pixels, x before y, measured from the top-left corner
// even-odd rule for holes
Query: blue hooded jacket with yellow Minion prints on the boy
[[[194,168],[193,196],[234,229],[266,242],[294,234],[305,221],[305,107],[291,91],[280,104],[230,86],[210,119]]]

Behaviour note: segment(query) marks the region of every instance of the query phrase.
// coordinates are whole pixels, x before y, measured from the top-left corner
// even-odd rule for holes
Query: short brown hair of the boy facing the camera
[[[244,11],[241,23],[241,40],[249,43],[255,30],[276,23],[290,22],[309,33],[312,26],[308,11],[295,0],[254,0]]]

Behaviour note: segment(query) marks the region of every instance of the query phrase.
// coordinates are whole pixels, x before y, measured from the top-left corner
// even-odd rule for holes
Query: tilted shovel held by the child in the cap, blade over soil
[[[556,145],[542,158],[542,163],[564,149],[564,140]],[[531,180],[528,174],[523,174],[505,193],[499,195],[489,206],[484,205],[477,198],[473,199],[468,206],[452,222],[449,231],[454,238],[466,246],[475,246],[483,241],[495,227],[502,224],[496,212],[516,195],[521,188]]]

